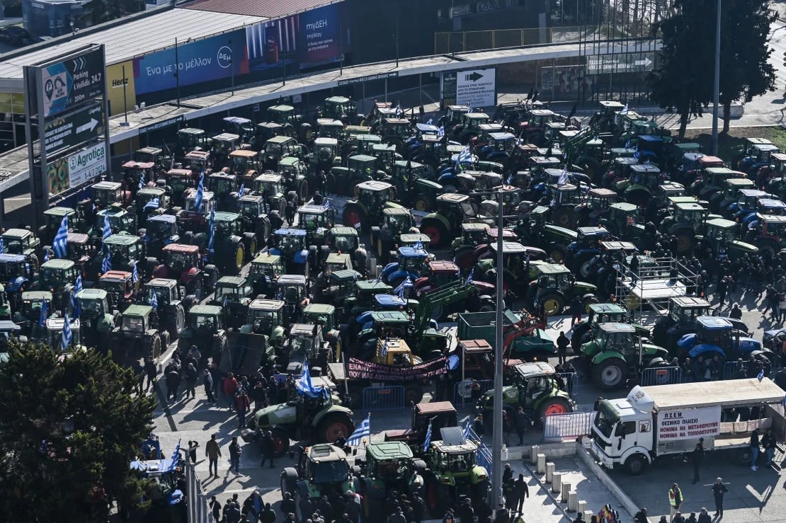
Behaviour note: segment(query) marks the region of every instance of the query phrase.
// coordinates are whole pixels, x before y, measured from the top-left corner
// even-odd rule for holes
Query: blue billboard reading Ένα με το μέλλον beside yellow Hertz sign
[[[177,66],[175,61],[178,62]],[[181,87],[230,78],[233,72],[235,75],[248,73],[245,30],[182,44],[177,50],[171,47],[134,58],[135,94],[176,88],[178,79],[174,76],[175,67]]]

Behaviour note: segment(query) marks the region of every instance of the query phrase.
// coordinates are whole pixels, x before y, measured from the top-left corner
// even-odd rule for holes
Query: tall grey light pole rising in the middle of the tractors
[[[502,201],[502,188],[498,194],[498,223],[497,223],[497,325],[494,344],[494,412],[491,416],[491,426],[494,440],[491,448],[491,508],[497,510],[502,502],[502,309],[505,302],[502,299],[502,268],[505,266],[505,238],[503,218],[504,204]]]

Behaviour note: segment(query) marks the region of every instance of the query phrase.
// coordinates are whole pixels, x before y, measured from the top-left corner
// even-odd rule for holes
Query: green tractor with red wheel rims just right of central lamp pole
[[[542,424],[545,416],[572,412],[575,402],[556,380],[556,371],[545,361],[534,361],[516,365],[512,369],[512,382],[502,387],[502,408],[508,412],[509,419],[516,415],[516,409],[523,407],[531,414],[530,418]],[[478,400],[476,410],[483,414],[487,429],[492,429],[494,390],[489,390]]]

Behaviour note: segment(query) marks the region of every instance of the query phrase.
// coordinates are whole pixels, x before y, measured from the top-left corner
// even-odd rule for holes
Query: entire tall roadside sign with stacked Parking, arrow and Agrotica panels
[[[103,45],[24,66],[32,224],[109,170]]]

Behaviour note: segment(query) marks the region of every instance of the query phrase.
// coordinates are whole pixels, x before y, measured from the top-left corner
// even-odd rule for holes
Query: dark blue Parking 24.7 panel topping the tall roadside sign
[[[41,70],[44,118],[59,115],[104,93],[104,52],[90,49]]]

